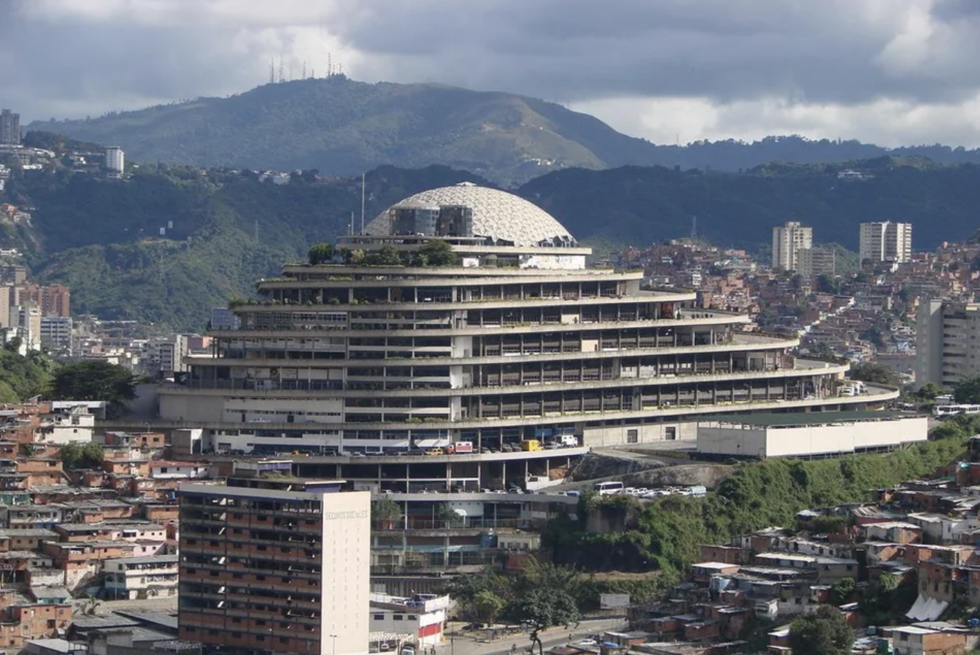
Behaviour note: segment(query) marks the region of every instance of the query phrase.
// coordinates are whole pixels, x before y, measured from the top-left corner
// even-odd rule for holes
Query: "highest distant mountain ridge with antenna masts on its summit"
[[[571,167],[737,172],[769,162],[832,163],[887,154],[980,163],[980,150],[933,145],[888,151],[858,141],[799,136],[655,145],[535,98],[441,84],[368,84],[345,76],[265,84],[228,98],[36,122],[27,128],[121,145],[134,161],[319,169],[333,176],[387,164],[441,164],[504,184]]]

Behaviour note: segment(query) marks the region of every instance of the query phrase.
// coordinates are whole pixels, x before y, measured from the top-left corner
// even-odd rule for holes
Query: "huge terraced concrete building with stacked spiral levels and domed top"
[[[459,261],[429,264],[432,242]],[[654,442],[693,437],[698,415],[897,396],[843,395],[848,365],[795,358],[796,337],[744,334],[749,317],[699,309],[694,292],[587,268],[590,249],[504,191],[424,191],[341,251],[367,256],[260,280],[263,299],[233,308],[240,326],[211,330],[214,355],[190,358],[185,378],[160,386],[161,417],[209,425],[218,451],[394,460],[469,442],[489,461],[531,439]],[[528,475],[505,469],[487,474]],[[454,467],[454,488],[478,490],[481,471]]]

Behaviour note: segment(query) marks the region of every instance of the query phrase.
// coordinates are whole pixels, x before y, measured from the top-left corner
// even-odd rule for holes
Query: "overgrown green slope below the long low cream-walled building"
[[[865,501],[868,490],[929,476],[963,455],[980,419],[946,422],[934,440],[885,455],[827,460],[773,459],[741,464],[705,498],[671,496],[640,503],[629,496],[583,495],[579,514],[626,517],[626,529],[592,533],[555,522],[545,535],[556,562],[585,571],[660,570],[676,578],[698,560],[701,543],[729,543],[754,529],[794,525],[807,508]]]

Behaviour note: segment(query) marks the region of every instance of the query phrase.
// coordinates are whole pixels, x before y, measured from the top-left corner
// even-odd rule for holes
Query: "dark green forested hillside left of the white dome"
[[[485,183],[445,167],[384,167],[367,181],[368,220],[425,188]],[[361,212],[360,179],[296,176],[280,186],[183,167],[144,168],[122,182],[30,174],[12,180],[8,197],[36,207],[27,261],[40,279],[71,286],[75,313],[191,330],[207,327],[212,307],[249,295],[256,278],[305,261],[310,244],[343,233],[352,213],[359,223]]]

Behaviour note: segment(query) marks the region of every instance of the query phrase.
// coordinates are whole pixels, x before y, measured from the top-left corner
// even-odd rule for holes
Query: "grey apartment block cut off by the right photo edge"
[[[916,386],[980,375],[980,303],[923,300],[915,319]]]

